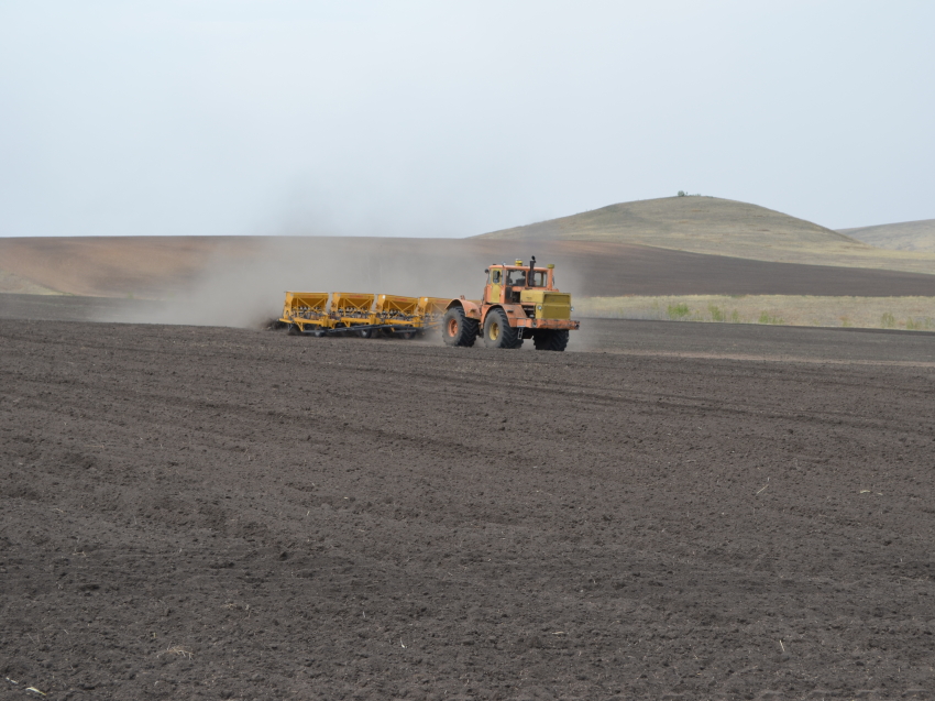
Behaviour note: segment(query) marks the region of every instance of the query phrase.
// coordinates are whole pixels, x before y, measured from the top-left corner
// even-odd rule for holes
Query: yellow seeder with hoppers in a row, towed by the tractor
[[[413,338],[441,324],[450,300],[346,292],[287,292],[280,326],[289,333]]]

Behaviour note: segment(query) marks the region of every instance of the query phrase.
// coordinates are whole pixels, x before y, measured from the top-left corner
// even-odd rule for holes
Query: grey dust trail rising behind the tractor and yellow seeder
[[[244,239],[216,252],[144,318],[121,313],[106,320],[257,327],[279,315],[286,291],[477,298],[487,265],[528,261],[530,254],[544,262],[538,248],[464,239]],[[565,281],[572,277],[569,270],[561,274]]]

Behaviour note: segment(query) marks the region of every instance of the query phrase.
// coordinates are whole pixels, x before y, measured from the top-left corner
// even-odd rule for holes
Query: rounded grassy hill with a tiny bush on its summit
[[[935,252],[878,249],[804,219],[717,197],[622,202],[477,238],[636,243],[758,261],[935,273]]]

